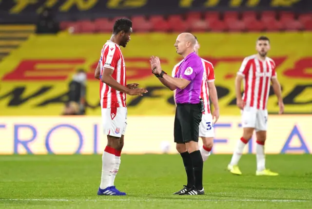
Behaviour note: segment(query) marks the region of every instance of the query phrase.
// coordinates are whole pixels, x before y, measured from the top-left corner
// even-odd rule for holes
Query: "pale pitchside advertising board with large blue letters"
[[[310,115],[270,115],[266,153],[311,153],[309,122]],[[176,153],[173,124],[173,116],[129,116],[123,153]],[[232,153],[241,134],[239,116],[221,116],[213,153]],[[0,136],[0,154],[100,154],[106,145],[93,116],[0,117]],[[244,153],[254,152],[253,139]]]

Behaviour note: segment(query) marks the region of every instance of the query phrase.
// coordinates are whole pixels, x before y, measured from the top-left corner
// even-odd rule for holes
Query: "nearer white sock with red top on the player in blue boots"
[[[106,146],[102,155],[102,176],[101,184],[99,186],[99,188],[102,190],[107,187],[113,186],[111,185],[111,178],[115,165],[115,154],[113,154],[114,150],[115,149]]]

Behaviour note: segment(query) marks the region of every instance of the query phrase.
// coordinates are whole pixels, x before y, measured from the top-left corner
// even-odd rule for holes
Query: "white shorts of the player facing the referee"
[[[127,108],[102,108],[102,125],[106,135],[124,135],[127,128]]]

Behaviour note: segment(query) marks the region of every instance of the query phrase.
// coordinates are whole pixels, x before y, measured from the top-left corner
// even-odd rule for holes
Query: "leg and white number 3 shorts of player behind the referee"
[[[211,114],[202,114],[201,122],[199,124],[199,136],[203,141],[203,146],[199,148],[199,151],[203,161],[206,161],[213,149],[215,137],[213,117]]]

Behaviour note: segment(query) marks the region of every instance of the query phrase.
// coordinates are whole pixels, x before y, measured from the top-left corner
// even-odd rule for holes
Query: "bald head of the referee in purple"
[[[194,46],[196,44],[196,38],[191,33],[181,33],[176,38],[176,53],[179,55],[189,55],[194,52]]]

